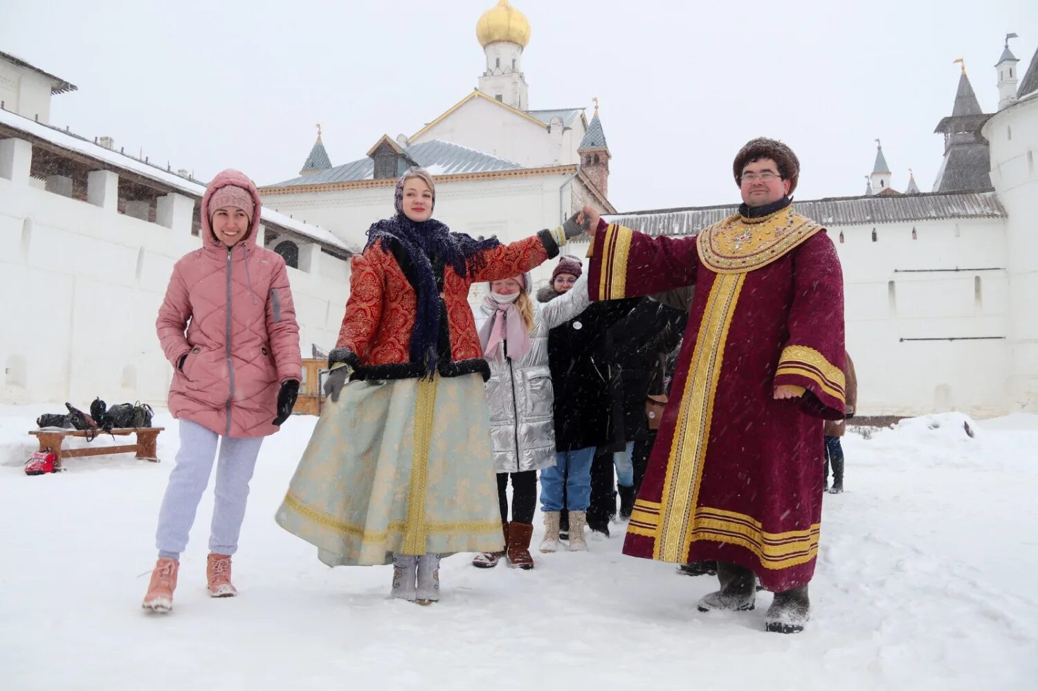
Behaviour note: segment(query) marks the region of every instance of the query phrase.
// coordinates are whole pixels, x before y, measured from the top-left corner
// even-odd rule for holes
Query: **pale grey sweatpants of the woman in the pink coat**
[[[231,439],[207,430],[197,422],[181,420],[181,450],[176,467],[169,473],[169,483],[159,509],[159,529],[155,535],[159,557],[180,559],[188,545],[198,502],[209,485],[220,442],[220,462],[216,468],[216,507],[210,530],[209,551],[234,554],[245,519],[249,480],[255,469],[263,437]]]

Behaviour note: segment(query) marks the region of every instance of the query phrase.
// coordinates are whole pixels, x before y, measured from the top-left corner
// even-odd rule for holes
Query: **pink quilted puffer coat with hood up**
[[[225,185],[255,202],[249,234],[228,249],[213,234],[209,200]],[[256,247],[260,193],[244,174],[224,170],[201,200],[201,249],[173,267],[156,328],[173,365],[169,412],[227,437],[277,432],[282,382],[302,381],[299,325],[284,259]],[[185,336],[185,329],[187,335]],[[177,362],[187,354],[183,371]]]

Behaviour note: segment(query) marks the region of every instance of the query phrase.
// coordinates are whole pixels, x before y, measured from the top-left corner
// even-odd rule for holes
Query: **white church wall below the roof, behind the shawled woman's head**
[[[571,175],[563,174],[439,183],[434,217],[453,230],[513,242],[562,223],[571,213]],[[368,226],[393,214],[392,194],[389,186],[273,194],[264,197],[264,205],[363,246]],[[546,281],[552,268],[554,261],[548,261],[535,270],[535,282]],[[482,299],[480,289],[473,289],[469,298]]]

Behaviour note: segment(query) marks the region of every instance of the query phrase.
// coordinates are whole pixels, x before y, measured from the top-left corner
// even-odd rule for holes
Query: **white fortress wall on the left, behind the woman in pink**
[[[91,173],[102,176],[97,203],[38,190],[28,184],[27,147],[0,142],[0,402],[163,404],[172,369],[155,321],[173,262],[199,246],[190,214],[173,214],[167,228],[117,213],[114,173]],[[321,261],[316,274],[289,270],[305,357],[311,342],[334,344],[348,295],[346,264]]]

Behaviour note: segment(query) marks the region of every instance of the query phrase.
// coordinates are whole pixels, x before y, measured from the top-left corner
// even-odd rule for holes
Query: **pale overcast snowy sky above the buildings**
[[[382,134],[408,136],[484,68],[475,22],[495,0],[4,2],[0,51],[79,86],[51,122],[208,179],[293,177],[315,123],[334,165]],[[664,2],[513,0],[530,22],[531,108],[598,96],[621,212],[737,200],[731,161],[747,139],[788,142],[797,196],[862,194],[875,142],[904,189],[940,164],[962,57],[981,106],[1008,31],[1026,70],[1033,0]]]

